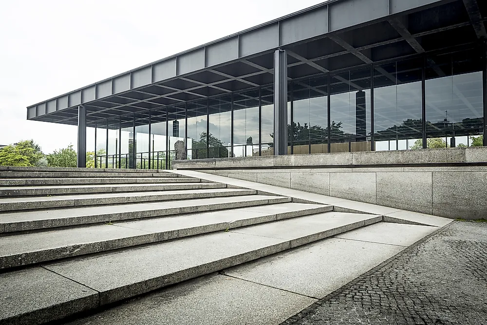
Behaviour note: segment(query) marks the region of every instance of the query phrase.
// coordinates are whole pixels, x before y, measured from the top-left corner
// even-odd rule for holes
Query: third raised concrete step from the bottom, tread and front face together
[[[255,191],[230,189],[225,189],[225,191],[225,194],[231,194],[232,196],[180,199],[176,201],[151,203],[70,207],[54,210],[4,212],[0,213],[0,233],[291,202],[291,198],[284,196],[239,194],[255,193]],[[0,201],[3,200],[5,199],[1,199]]]

